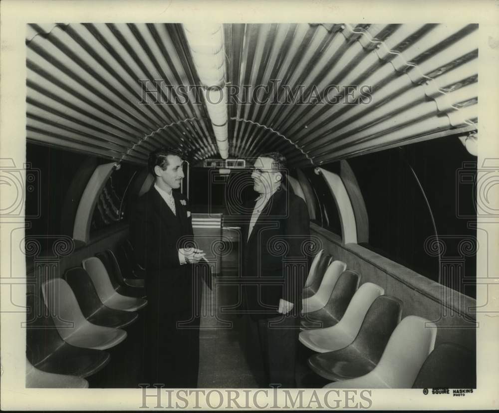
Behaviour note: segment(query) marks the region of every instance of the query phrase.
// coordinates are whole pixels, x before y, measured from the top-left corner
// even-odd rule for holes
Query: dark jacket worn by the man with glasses
[[[309,216],[305,202],[290,191],[280,189],[268,200],[248,239],[249,220],[255,201],[245,205],[242,276],[247,309],[255,318],[277,315],[279,299],[301,307],[307,255],[304,242],[309,239]]]

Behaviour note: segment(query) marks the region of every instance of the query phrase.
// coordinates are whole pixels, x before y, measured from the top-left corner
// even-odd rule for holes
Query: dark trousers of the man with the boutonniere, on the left
[[[190,309],[146,321],[143,383],[197,387],[199,322],[199,316],[193,317]]]

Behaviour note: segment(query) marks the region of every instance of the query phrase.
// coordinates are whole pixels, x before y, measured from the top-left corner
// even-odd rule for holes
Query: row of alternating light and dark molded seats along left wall
[[[144,280],[127,279],[125,265],[106,250],[27,294],[26,387],[84,388],[109,362],[104,350],[127,337],[147,305]]]

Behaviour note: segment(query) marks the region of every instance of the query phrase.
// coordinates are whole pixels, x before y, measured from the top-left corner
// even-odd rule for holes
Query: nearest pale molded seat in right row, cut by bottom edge
[[[329,389],[410,389],[432,352],[437,326],[418,316],[407,316],[388,340],[377,366],[364,376],[330,383]]]

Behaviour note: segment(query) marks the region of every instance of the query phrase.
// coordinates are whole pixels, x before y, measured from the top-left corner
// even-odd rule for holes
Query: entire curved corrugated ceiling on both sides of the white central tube
[[[476,24],[224,24],[229,156],[278,150],[319,165],[475,130],[477,35]],[[200,84],[181,24],[30,24],[26,45],[27,139],[136,163],[163,145],[218,157],[193,90],[151,103]],[[144,96],[144,85],[164,89]],[[286,87],[305,103],[276,103]],[[326,91],[329,103],[310,99]]]

